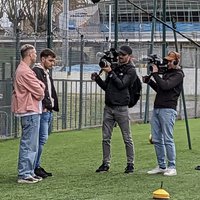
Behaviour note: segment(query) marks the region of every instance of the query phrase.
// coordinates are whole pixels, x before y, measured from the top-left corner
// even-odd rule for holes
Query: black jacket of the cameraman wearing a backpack
[[[127,106],[130,100],[128,87],[135,79],[135,68],[129,63],[115,67],[108,73],[105,81],[100,76],[97,76],[95,81],[105,91],[107,106]]]

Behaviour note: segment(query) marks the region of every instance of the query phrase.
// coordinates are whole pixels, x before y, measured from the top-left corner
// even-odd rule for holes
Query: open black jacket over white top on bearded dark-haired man
[[[47,86],[47,77],[46,77],[46,74],[44,72],[44,70],[41,68],[41,67],[34,67],[33,68],[33,71],[36,73],[36,76],[39,80],[41,80],[44,84],[45,84],[45,96],[44,96],[44,99],[42,100],[42,106],[43,106],[43,109],[46,108],[47,110],[49,111],[59,111],[59,107],[58,107],[58,97],[57,97],[57,94],[56,94],[56,90],[55,90],[55,87],[54,87],[54,84],[53,84],[53,79],[51,76],[49,76],[49,79],[51,81],[51,94],[52,94],[52,98],[54,99],[54,107],[52,107],[52,103],[51,103],[51,100],[50,100],[50,97],[49,97],[49,92],[48,92],[48,86]]]

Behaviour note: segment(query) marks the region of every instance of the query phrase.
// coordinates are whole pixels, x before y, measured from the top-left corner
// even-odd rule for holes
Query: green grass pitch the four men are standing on
[[[110,172],[98,174],[101,164],[101,129],[54,133],[43,153],[43,167],[53,173],[36,184],[18,184],[19,140],[0,142],[0,199],[2,200],[149,200],[163,181],[173,200],[199,200],[200,119],[189,120],[192,150],[188,148],[185,121],[175,125],[177,172],[174,177],[148,175],[156,166],[153,145],[149,144],[150,124],[133,124],[135,172],[124,174],[126,158],[119,128],[112,138]]]

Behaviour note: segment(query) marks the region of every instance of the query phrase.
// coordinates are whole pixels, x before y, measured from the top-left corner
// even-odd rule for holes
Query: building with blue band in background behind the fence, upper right
[[[155,10],[154,1],[132,0],[131,2],[138,7],[141,7],[149,14],[152,14]],[[163,2],[163,0],[156,1],[156,17],[159,19],[163,18]],[[200,1],[166,0],[165,2],[166,23],[172,26],[171,21],[173,18],[176,21],[178,31],[185,32],[191,37],[200,38]],[[91,7],[91,5],[88,6]],[[115,1],[101,0],[98,4],[94,5],[94,7],[96,6],[98,6],[100,21],[96,21],[96,23],[88,23],[85,26],[85,29],[82,30],[82,34],[84,34],[88,40],[92,40],[94,37],[98,40],[105,39],[110,31],[112,32],[113,39],[115,32]],[[76,13],[76,10],[70,12]],[[118,0],[117,12],[119,40],[124,38],[129,40],[149,40],[150,35],[148,33],[151,32],[152,29],[152,17],[149,14],[136,8],[126,0]],[[111,16],[111,19],[109,16]],[[109,29],[109,23],[111,23],[111,30]],[[155,31],[157,37],[161,35],[162,30],[162,24],[156,22]],[[171,30],[167,28],[167,32],[170,31]],[[76,36],[72,34],[69,37],[74,39]]]

